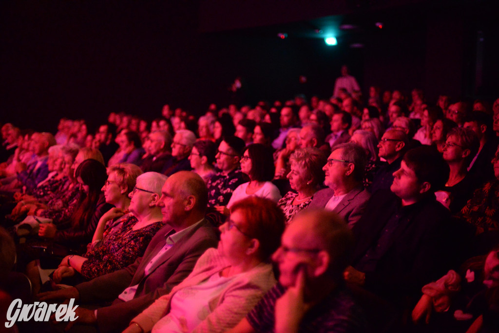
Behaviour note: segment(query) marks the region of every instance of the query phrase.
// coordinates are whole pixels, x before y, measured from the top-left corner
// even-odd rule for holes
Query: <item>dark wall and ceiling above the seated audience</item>
[[[498,94],[495,1],[437,7],[378,1],[373,8],[367,2],[319,1],[317,8],[301,2],[276,11],[255,1],[248,11],[234,1],[1,1],[0,121],[54,130],[61,116],[97,124],[123,111],[152,119],[164,103],[200,113],[211,102],[226,105],[238,75],[249,103],[300,92],[327,97],[342,63],[365,88],[422,87],[431,97]],[[343,32],[339,45],[328,47],[299,33],[321,13],[370,28]],[[385,27],[372,28],[380,19]],[[281,40],[276,33],[283,29],[289,37]]]

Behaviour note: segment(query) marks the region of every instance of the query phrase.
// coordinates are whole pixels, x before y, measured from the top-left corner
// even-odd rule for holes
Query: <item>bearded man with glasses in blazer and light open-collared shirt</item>
[[[366,161],[366,152],[354,143],[335,146],[322,168],[328,188],[315,193],[308,207],[331,210],[352,228],[364,213],[370,197],[362,186]]]

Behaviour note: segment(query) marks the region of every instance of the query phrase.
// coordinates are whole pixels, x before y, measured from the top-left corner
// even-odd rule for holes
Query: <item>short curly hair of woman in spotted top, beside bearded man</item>
[[[300,168],[306,170],[312,179],[310,186],[321,185],[324,182],[325,174],[322,168],[327,162],[326,153],[316,147],[296,149],[289,156],[289,163],[296,163]]]

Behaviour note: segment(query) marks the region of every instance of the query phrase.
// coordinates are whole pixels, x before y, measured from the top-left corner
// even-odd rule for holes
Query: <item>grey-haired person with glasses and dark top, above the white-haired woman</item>
[[[190,171],[189,155],[196,142],[196,134],[188,129],[179,129],[173,137],[172,159],[163,166],[162,174],[171,176],[182,170]]]

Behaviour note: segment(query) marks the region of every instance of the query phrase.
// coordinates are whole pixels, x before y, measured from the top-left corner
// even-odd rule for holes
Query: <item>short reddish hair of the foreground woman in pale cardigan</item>
[[[265,198],[250,196],[237,201],[231,213],[239,211],[245,219],[242,231],[259,242],[259,259],[268,261],[280,246],[284,232],[284,213],[277,205]]]

